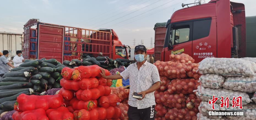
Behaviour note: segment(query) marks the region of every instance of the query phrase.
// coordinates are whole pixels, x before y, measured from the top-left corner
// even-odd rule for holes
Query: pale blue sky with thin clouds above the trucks
[[[210,0],[205,0],[209,2]],[[255,0],[232,0],[246,6],[246,16],[255,16]],[[23,32],[31,18],[85,29],[108,28],[117,32],[123,44],[144,40],[150,46],[154,24],[166,22],[173,10],[194,0],[5,0],[0,4],[0,31]]]

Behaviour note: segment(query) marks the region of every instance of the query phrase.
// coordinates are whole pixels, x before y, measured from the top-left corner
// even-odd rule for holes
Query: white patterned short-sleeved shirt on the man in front
[[[137,62],[131,64],[120,75],[130,80],[130,93],[128,104],[138,109],[144,109],[156,105],[154,92],[145,95],[144,99],[138,100],[132,97],[133,92],[142,92],[149,89],[154,83],[160,81],[157,67],[147,61],[138,70]]]

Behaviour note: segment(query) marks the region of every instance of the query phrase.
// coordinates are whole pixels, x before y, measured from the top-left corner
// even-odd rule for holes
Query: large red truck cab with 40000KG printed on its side
[[[161,61],[170,54],[186,53],[200,62],[204,58],[246,56],[244,4],[211,0],[173,13],[167,21]]]

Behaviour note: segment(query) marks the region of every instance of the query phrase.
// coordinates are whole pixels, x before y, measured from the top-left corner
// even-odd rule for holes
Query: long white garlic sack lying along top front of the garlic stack
[[[198,63],[201,74],[214,73],[224,77],[254,76],[256,64],[238,58],[205,58]]]

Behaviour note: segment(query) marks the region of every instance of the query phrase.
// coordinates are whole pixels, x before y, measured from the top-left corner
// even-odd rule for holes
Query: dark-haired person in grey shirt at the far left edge
[[[3,77],[4,74],[8,73],[8,66],[14,68],[14,66],[7,60],[9,56],[9,51],[4,50],[3,55],[0,57],[0,76]]]

